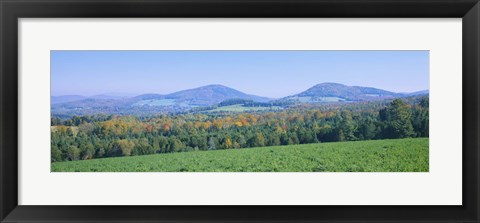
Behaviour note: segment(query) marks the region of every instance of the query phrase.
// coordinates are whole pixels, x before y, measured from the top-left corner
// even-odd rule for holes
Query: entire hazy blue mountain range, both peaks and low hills
[[[428,90],[412,93],[395,93],[378,88],[347,86],[338,83],[317,84],[301,93],[280,99],[272,99],[229,88],[223,85],[207,85],[182,90],[171,94],[142,94],[135,97],[96,95],[52,96],[52,114],[94,113],[152,113],[186,111],[196,107],[208,107],[232,99],[243,99],[258,103],[329,103],[374,101],[428,94]]]

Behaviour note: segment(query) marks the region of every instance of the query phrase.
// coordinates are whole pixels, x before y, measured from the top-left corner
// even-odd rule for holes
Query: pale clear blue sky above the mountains
[[[336,82],[429,89],[428,51],[51,51],[51,93],[168,94],[222,84],[279,98]]]

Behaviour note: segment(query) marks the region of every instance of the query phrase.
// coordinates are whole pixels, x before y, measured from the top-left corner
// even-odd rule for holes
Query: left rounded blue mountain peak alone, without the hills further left
[[[219,84],[175,92],[166,95],[165,98],[174,99],[177,103],[187,103],[196,106],[214,105],[229,99],[248,99],[256,102],[267,102],[270,100],[265,97],[245,94],[241,91]]]

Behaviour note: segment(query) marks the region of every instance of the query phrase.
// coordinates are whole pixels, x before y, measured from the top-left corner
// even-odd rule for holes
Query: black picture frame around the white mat
[[[0,0],[0,14],[1,222],[479,222],[478,0]],[[17,21],[19,18],[74,17],[462,18],[463,205],[18,205]]]

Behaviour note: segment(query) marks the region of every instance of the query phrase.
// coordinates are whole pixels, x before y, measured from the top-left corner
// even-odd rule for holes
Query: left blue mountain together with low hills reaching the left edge
[[[57,115],[84,114],[155,114],[182,112],[194,107],[215,105],[230,99],[267,102],[270,99],[245,94],[223,85],[207,85],[178,91],[168,95],[142,94],[130,98],[109,96],[83,97],[80,100],[52,103],[52,113]]]

